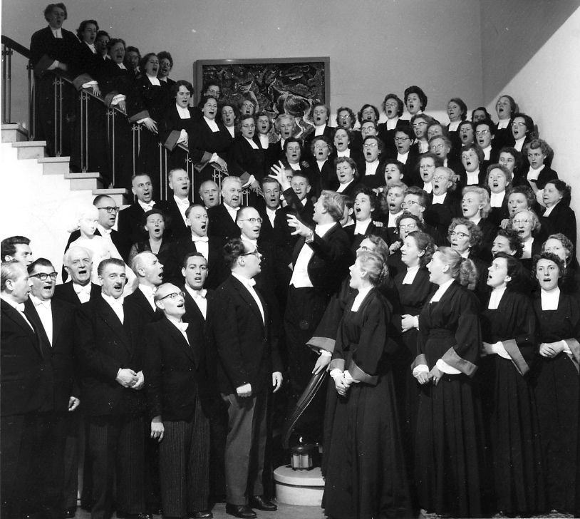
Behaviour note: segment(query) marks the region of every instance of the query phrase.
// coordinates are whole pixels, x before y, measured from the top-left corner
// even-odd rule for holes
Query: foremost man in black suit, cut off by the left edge
[[[38,454],[38,411],[52,404],[52,373],[40,335],[24,314],[30,278],[18,262],[1,264],[0,466],[1,516],[20,518],[29,495],[29,473]]]

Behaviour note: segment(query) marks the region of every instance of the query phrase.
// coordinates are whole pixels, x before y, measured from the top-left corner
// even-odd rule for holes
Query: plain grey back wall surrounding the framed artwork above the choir
[[[26,47],[46,26],[48,2],[4,0],[2,34]],[[331,111],[427,93],[428,113],[447,123],[447,101],[482,103],[478,0],[65,1],[64,28],[83,19],[138,46],[170,51],[173,79],[193,78],[197,59],[330,56]],[[476,37],[474,37],[474,35]],[[195,84],[195,82],[194,82]],[[332,121],[334,125],[334,121]]]

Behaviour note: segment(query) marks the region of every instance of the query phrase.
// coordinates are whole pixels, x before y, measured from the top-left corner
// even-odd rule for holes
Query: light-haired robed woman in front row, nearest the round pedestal
[[[389,354],[392,307],[377,287],[383,258],[362,252],[351,267],[358,294],[338,329],[327,413],[333,417],[323,506],[336,519],[409,515],[409,493]],[[327,415],[328,417],[328,415]]]

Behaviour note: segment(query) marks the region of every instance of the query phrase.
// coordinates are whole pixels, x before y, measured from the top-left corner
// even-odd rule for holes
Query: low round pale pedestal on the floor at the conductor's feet
[[[276,500],[286,505],[320,506],[324,492],[324,480],[320,467],[311,471],[293,471],[283,465],[274,471]]]

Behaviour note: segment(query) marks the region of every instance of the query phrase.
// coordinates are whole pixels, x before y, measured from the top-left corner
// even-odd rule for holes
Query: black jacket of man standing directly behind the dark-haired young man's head
[[[229,218],[229,215],[227,215]],[[239,227],[238,227],[239,228]],[[210,237],[208,242],[208,258],[207,258],[207,279],[205,280],[204,288],[217,289],[227,277],[229,277],[229,269],[222,255],[222,246],[224,240],[217,237]],[[181,274],[183,266],[183,259],[190,252],[197,252],[195,243],[192,242],[191,235],[183,237],[177,242],[173,242],[170,248],[170,260],[165,265],[165,272],[169,279],[177,285],[182,285],[185,282]]]

